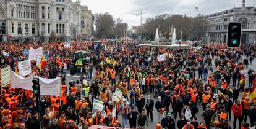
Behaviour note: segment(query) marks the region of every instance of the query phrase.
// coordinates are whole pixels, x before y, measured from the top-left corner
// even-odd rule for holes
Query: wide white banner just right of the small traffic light
[[[40,94],[61,96],[61,77],[44,79],[39,77]]]

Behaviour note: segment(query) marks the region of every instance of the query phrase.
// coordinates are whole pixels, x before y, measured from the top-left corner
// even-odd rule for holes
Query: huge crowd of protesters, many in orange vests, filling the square
[[[47,65],[39,69],[32,61],[32,72],[44,78],[61,77],[62,86],[61,96],[41,96],[39,109],[32,91],[2,87],[0,127],[224,129],[231,124],[236,128],[237,119],[237,128],[256,127],[256,98],[250,96],[256,71],[245,71],[255,59],[255,45],[230,49],[214,43],[197,44],[201,49],[171,49],[138,47],[138,41],[101,42],[96,51],[90,49],[91,41],[72,41],[69,48],[59,42],[1,43],[1,52],[10,52],[1,56],[1,68],[10,66],[17,74],[17,63],[28,60],[23,50],[43,47]],[[64,68],[74,63],[76,50],[90,52],[90,63],[80,80],[66,82]],[[167,60],[160,62],[162,54]],[[112,100],[117,88],[124,96],[119,102]],[[104,103],[103,111],[93,109],[94,99]],[[153,112],[158,120],[153,120]],[[200,113],[204,120],[197,122]],[[148,127],[149,119],[155,127]]]

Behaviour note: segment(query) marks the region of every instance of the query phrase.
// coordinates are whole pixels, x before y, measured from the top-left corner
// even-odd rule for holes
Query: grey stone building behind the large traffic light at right
[[[256,39],[256,8],[254,6],[234,7],[215,14],[205,15],[208,37],[204,41],[226,42],[229,22],[242,22],[242,44],[254,43]]]

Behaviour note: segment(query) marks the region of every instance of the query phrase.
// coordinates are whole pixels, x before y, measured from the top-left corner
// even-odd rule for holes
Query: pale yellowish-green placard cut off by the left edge
[[[7,66],[6,68],[1,69],[1,85],[5,87],[6,85],[10,84],[11,82],[11,70],[10,67]]]

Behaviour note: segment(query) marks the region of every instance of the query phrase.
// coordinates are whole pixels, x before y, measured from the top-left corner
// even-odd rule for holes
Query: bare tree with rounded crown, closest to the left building
[[[96,34],[99,38],[106,37],[113,31],[114,20],[108,12],[95,14]]]

